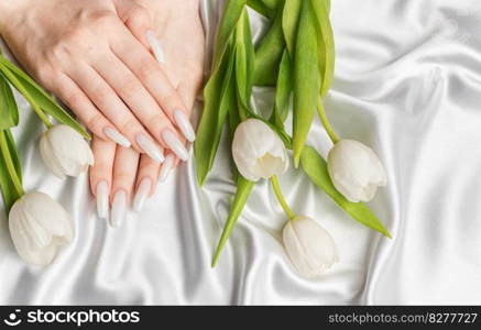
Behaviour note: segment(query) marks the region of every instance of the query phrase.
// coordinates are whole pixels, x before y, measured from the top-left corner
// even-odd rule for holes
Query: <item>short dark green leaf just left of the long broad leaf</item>
[[[274,111],[271,122],[284,130],[284,122],[287,118],[291,94],[293,90],[293,68],[287,50],[284,48],[278,69],[277,86],[275,89]]]

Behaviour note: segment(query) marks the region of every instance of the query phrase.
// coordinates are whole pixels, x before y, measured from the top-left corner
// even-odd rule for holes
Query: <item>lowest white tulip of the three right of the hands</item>
[[[329,232],[307,217],[297,216],[284,227],[284,246],[300,275],[316,277],[339,261]]]

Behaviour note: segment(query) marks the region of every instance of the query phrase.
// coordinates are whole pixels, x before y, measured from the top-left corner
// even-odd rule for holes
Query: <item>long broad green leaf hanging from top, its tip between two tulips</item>
[[[316,24],[310,1],[304,1],[294,57],[293,156],[295,167],[299,164],[320,90]]]

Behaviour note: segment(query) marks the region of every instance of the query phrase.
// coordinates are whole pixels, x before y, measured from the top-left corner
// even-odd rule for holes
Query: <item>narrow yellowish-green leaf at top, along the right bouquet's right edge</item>
[[[310,0],[317,18],[319,70],[323,79],[320,96],[326,96],[334,80],[335,42],[326,0]]]

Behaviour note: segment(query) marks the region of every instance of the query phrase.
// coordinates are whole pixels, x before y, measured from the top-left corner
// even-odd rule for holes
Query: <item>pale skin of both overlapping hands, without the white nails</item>
[[[150,48],[149,30],[164,64]],[[153,194],[163,166],[155,156],[173,154],[173,167],[178,163],[163,132],[186,143],[174,114],[189,118],[203,82],[199,0],[0,0],[0,32],[21,65],[94,133],[94,195],[105,180],[110,202],[119,190],[129,201],[146,177]],[[106,128],[130,145],[112,142]],[[157,153],[146,152],[139,135]]]

